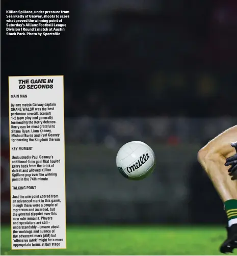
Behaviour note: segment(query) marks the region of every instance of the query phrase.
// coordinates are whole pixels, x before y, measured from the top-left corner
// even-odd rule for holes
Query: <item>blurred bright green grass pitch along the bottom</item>
[[[12,251],[10,227],[2,226],[1,255],[223,255],[225,236],[224,227],[72,225],[67,249]]]

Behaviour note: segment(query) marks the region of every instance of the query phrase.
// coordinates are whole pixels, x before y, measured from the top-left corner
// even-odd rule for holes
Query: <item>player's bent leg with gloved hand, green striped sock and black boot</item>
[[[220,195],[228,218],[222,253],[237,248],[237,125],[208,142],[198,152],[198,161]]]

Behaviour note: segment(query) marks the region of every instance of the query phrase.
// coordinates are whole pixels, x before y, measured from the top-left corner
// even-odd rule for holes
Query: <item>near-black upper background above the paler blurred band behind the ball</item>
[[[69,117],[234,115],[236,1],[134,3],[5,1],[3,110],[8,75],[64,74]],[[70,19],[60,37],[7,37],[7,9]]]

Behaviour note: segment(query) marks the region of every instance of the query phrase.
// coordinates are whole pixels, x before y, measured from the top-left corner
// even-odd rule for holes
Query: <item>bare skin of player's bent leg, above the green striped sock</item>
[[[198,152],[198,161],[212,180],[223,201],[237,199],[237,181],[228,175],[226,159],[234,155],[230,143],[236,141],[237,125],[208,142]]]

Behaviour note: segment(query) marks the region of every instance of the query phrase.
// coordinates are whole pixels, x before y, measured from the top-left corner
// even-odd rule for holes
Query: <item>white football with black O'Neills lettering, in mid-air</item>
[[[116,165],[120,173],[129,180],[142,180],[154,170],[155,155],[147,144],[131,141],[119,149]]]

